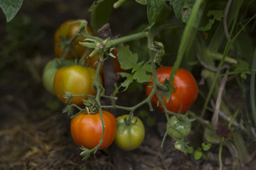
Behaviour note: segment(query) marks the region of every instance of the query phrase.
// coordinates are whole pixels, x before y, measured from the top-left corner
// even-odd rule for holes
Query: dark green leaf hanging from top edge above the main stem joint
[[[163,23],[169,17],[171,8],[167,6],[164,0],[147,0],[147,16],[149,26],[152,27],[156,23]]]

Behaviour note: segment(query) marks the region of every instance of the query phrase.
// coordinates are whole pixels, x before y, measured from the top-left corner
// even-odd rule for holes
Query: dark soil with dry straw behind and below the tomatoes
[[[33,25],[40,28],[43,36],[34,41],[35,43],[28,43],[29,47],[23,48],[22,62],[10,62],[5,67],[0,67],[2,73],[6,73],[4,69],[9,72],[4,74],[7,76],[5,79],[1,78],[0,84],[0,169],[219,169],[218,145],[213,145],[206,152],[204,159],[199,160],[195,160],[191,154],[185,155],[175,149],[174,140],[170,137],[166,138],[164,147],[161,148],[166,120],[165,115],[157,109],[149,113],[149,116],[156,120],[154,125],[149,126],[146,118],[142,118],[146,126],[146,137],[139,148],[124,152],[112,145],[92,154],[87,161],[82,161],[81,150],[70,135],[70,118],[61,113],[65,105],[55,96],[48,94],[38,76],[41,77],[46,62],[55,57],[55,29],[68,19],[89,20],[90,13],[87,10],[90,4],[92,1],[80,0],[23,2],[16,17],[28,16]],[[135,12],[129,10],[131,9],[117,10],[112,16],[113,33],[125,35],[144,20],[142,18],[142,21],[133,22],[132,15],[135,15]],[[141,10],[145,11],[144,8]],[[2,12],[0,22],[1,37],[4,37],[6,21]],[[1,77],[4,76],[1,74]],[[133,97],[119,96],[120,103],[133,105],[137,103],[134,98],[139,100],[144,94],[134,93],[131,96]],[[197,140],[201,142],[203,137],[198,137]],[[223,169],[233,169],[236,160],[233,160],[225,147],[222,160]],[[256,160],[244,166],[238,164],[237,167],[256,169]]]

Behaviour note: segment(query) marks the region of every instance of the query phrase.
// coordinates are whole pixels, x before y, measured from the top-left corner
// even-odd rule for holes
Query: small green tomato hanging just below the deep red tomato
[[[191,132],[191,121],[186,115],[178,115],[178,118],[176,115],[171,116],[170,125],[166,124],[168,135],[176,140],[181,140]]]

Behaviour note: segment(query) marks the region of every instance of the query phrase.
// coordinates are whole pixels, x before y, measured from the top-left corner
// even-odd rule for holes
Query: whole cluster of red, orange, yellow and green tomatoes
[[[102,84],[103,68],[100,68],[100,74],[95,80],[96,68],[100,57],[98,54],[89,57],[92,51],[79,44],[84,39],[78,33],[79,26],[80,23],[74,23],[73,20],[70,20],[63,23],[56,30],[54,51],[58,58],[46,64],[43,70],[43,84],[50,93],[55,94],[63,103],[82,106],[89,96],[97,94],[97,91],[93,89],[93,84],[94,81]],[[92,35],[90,26],[87,26],[86,31],[82,31]],[[114,48],[112,52],[116,56],[113,63],[114,72],[124,72],[117,60],[117,49]],[[63,59],[64,56],[65,59]],[[84,65],[74,64],[73,62],[74,59],[83,60],[84,58]],[[164,84],[164,81],[169,79],[171,70],[172,67],[156,69],[157,78],[161,84]],[[170,100],[167,102],[166,96],[162,98],[164,106],[171,112],[184,113],[188,111],[198,96],[196,80],[190,72],[185,69],[178,69],[174,75],[173,84],[174,91]],[[151,86],[153,85],[153,82],[146,84],[147,96],[151,93]],[[161,91],[157,91],[157,93],[161,94]],[[151,103],[161,111],[164,111],[156,94],[151,98]],[[89,110],[81,111],[81,113],[72,118],[70,132],[78,146],[87,149],[99,146],[98,149],[105,149],[114,142],[121,149],[132,150],[142,144],[145,137],[145,128],[142,120],[131,115],[121,115],[115,118],[108,111],[102,111],[101,113],[92,113]],[[186,116],[171,116],[169,123],[166,125],[169,136],[177,140],[186,137],[190,129],[191,122],[187,120]],[[104,132],[104,135],[102,135],[102,132]]]

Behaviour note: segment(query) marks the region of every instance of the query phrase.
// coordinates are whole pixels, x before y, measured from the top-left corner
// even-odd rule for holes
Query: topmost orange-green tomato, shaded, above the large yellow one
[[[69,20],[65,21],[56,31],[54,34],[54,52],[57,57],[62,57],[65,54],[65,51],[63,50],[63,46],[59,46],[61,40],[60,36],[63,38],[73,38],[78,33],[78,27],[80,26],[80,23],[72,23],[75,20]],[[87,26],[87,30],[90,34],[92,34],[92,28],[90,26]],[[73,41],[73,45],[71,49],[75,52],[75,55],[77,57],[80,57],[86,50],[87,47],[84,47],[80,45],[78,42],[82,42],[84,38],[81,36],[78,36],[78,38],[75,38]],[[68,55],[66,55],[65,59],[74,59],[75,56],[72,54],[72,52],[68,52]]]

